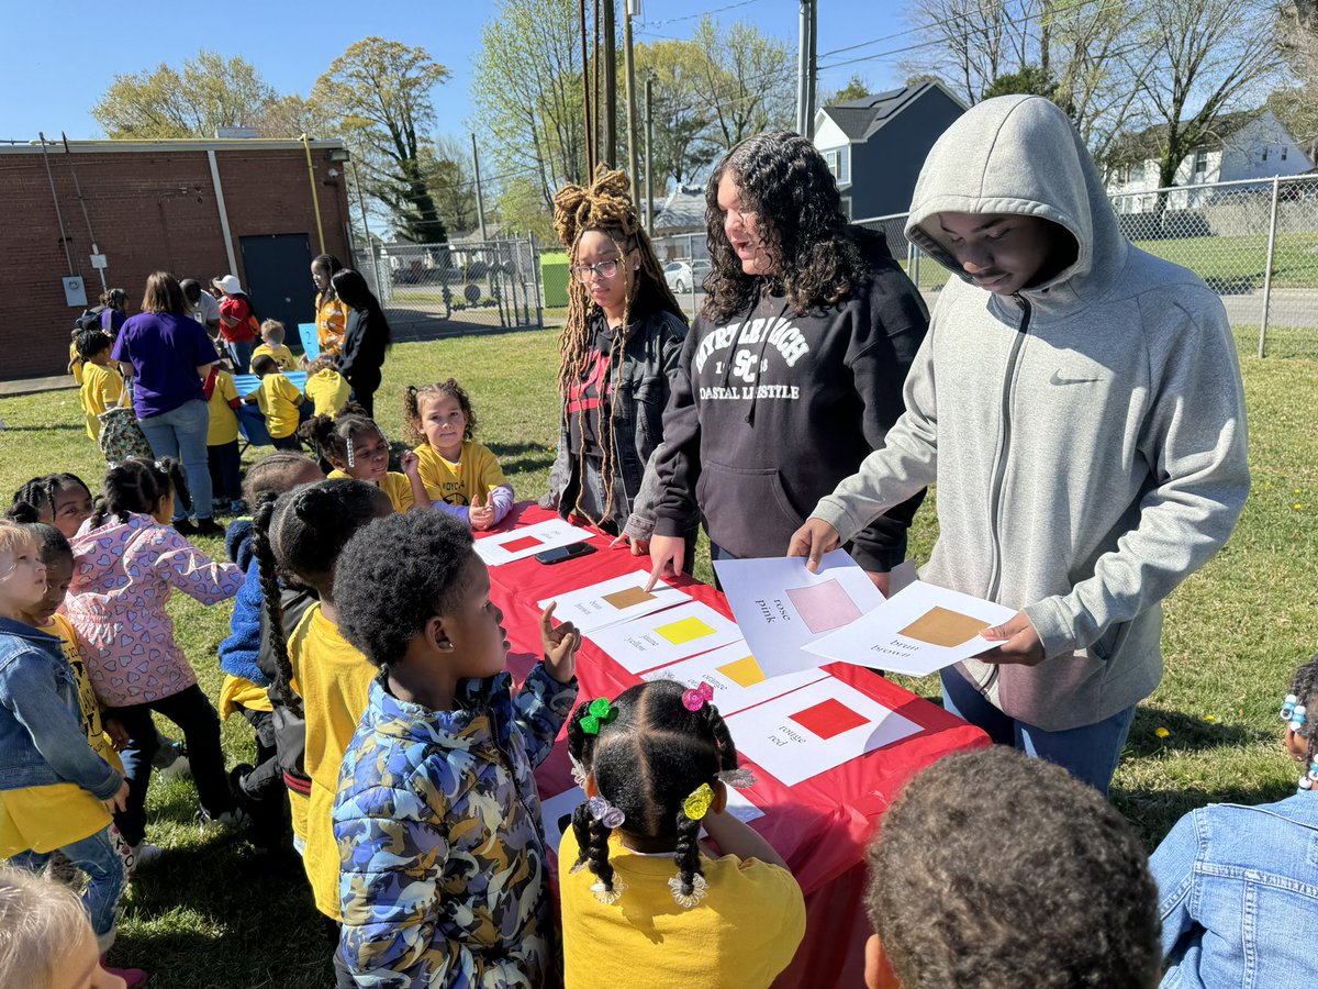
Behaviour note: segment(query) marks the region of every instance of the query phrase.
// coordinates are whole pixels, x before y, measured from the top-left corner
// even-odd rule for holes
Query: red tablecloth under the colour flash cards
[[[554,517],[532,504],[518,505],[497,531]],[[648,559],[634,558],[626,546],[610,550],[604,535],[597,535],[593,543],[597,553],[555,566],[529,558],[490,567],[492,597],[503,609],[503,625],[513,646],[509,667],[518,679],[539,658],[536,601],[648,567]],[[731,617],[728,601],[714,588],[689,578],[676,585]],[[745,793],[764,811],[751,827],[787,860],[805,894],[805,940],[791,968],[775,982],[784,988],[863,985],[863,945],[870,934],[862,906],[865,845],[876,820],[903,783],[920,769],[950,752],[988,745],[987,736],[978,728],[870,670],[849,663],[824,669],[924,731],[791,787],[754,762],[743,761],[758,781]],[[577,679],[583,699],[614,698],[641,683],[639,676],[623,670],[589,640],[577,653]],[[542,799],[573,786],[564,744],[555,746],[536,779]]]

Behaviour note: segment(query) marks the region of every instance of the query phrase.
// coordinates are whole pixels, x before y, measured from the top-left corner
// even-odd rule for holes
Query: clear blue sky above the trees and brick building
[[[617,0],[619,16],[622,4]],[[590,5],[588,0],[588,9]],[[472,61],[481,29],[494,17],[494,5],[482,0],[124,0],[113,5],[45,0],[8,7],[5,57],[0,59],[0,140],[32,140],[38,131],[47,137],[61,131],[70,138],[100,137],[90,109],[115,74],[161,62],[178,66],[202,47],[240,54],[281,92],[306,95],[336,55],[370,34],[420,45],[452,70],[452,78],[435,90],[435,108],[440,132],[463,135],[471,113]],[[637,40],[689,37],[704,11],[717,11],[714,16],[724,24],[750,21],[796,50],[796,0],[643,0],[642,20],[633,21]],[[896,34],[907,26],[902,0],[820,0],[820,62],[830,61],[824,54],[832,49]],[[832,61],[880,53],[907,41],[892,38]],[[898,58],[824,71],[820,91],[840,88],[853,73],[865,76],[871,88],[899,86]]]

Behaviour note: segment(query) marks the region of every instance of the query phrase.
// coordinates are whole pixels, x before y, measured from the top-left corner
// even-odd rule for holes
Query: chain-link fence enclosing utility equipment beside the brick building
[[[534,240],[381,244],[353,252],[399,340],[544,326]]]

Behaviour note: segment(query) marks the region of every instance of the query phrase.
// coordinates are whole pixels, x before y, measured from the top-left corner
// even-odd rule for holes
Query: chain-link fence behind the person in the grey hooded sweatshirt
[[[1242,352],[1318,357],[1318,175],[1124,193],[1111,203],[1136,247],[1222,297]],[[858,223],[887,235],[932,305],[949,273],[905,239],[905,219]]]

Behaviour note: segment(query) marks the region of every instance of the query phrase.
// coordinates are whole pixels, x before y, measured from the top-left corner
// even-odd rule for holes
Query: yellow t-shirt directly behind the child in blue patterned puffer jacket
[[[377,670],[312,604],[289,640],[294,688],[307,717],[303,766],[311,777],[306,841],[302,864],[311,882],[316,909],[335,920],[339,911],[339,844],[333,837],[333,798],[339,769],[357,723],[366,711],[370,682]]]

